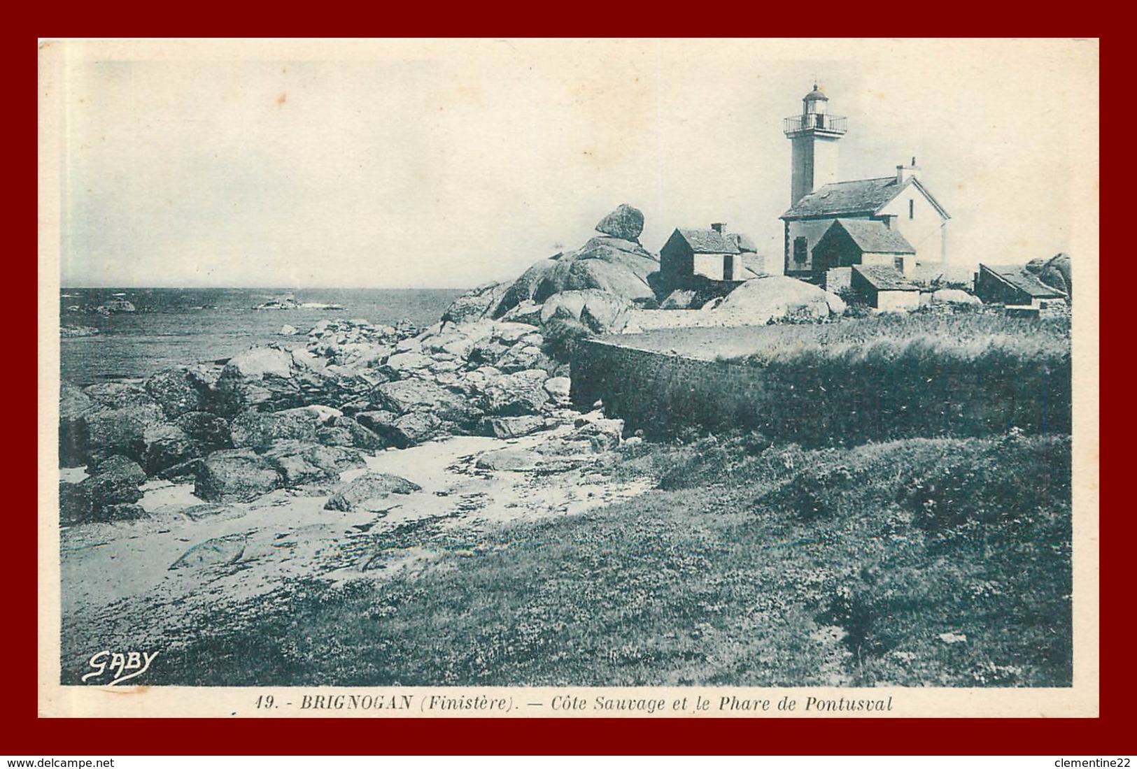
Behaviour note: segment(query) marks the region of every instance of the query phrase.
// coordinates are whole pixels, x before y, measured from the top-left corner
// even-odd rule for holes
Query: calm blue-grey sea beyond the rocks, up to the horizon
[[[373,324],[407,319],[429,326],[462,293],[455,289],[63,289],[60,326],[98,333],[60,337],[60,376],[78,385],[140,379],[165,368],[222,361],[256,344],[304,346],[305,334],[323,318]],[[115,300],[130,302],[135,311],[97,311]],[[291,309],[256,309],[274,301]],[[282,336],[284,325],[300,333]]]

